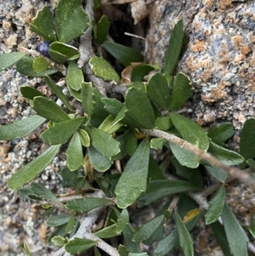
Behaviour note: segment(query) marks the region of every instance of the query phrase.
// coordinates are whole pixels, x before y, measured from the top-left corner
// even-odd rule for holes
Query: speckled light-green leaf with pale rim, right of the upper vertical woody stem
[[[96,77],[103,78],[105,81],[120,82],[119,75],[105,59],[94,56],[89,60],[89,65]]]

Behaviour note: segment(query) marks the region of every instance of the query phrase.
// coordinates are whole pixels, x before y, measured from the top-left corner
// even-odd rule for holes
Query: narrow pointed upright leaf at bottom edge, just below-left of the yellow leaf
[[[175,221],[178,230],[178,240],[180,247],[182,247],[185,256],[193,256],[194,249],[190,233],[184,225],[182,219],[180,219],[177,211],[175,211]]]

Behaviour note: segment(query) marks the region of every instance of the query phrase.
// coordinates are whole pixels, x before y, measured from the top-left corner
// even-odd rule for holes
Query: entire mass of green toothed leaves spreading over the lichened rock
[[[47,122],[40,138],[49,145],[48,149],[13,174],[8,180],[8,187],[18,190],[20,196],[26,199],[43,202],[45,216],[48,216],[47,225],[55,227],[50,242],[64,247],[71,254],[94,247],[95,254],[99,255],[95,240],[71,237],[77,231],[82,214],[109,206],[105,227],[94,235],[100,239],[122,235],[125,246],[118,247],[120,255],[146,255],[140,251],[139,242],[147,245],[156,242],[154,255],[157,256],[165,255],[175,247],[181,247],[186,256],[194,255],[190,231],[201,216],[211,226],[225,255],[247,255],[248,237],[225,202],[224,183],[228,174],[215,168],[212,162],[201,161],[195,152],[184,150],[182,145],[163,137],[150,138],[140,130],[159,129],[175,134],[228,166],[255,166],[255,148],[252,146],[255,145],[254,119],[244,124],[238,154],[226,145],[234,135],[231,123],[207,131],[176,112],[193,93],[189,77],[175,72],[184,38],[183,21],[180,20],[172,31],[164,65],[134,66],[124,99],[116,100],[103,96],[92,82],[86,82],[82,69],[77,65],[80,53],[68,43],[80,37],[88,26],[93,26],[96,42],[122,65],[128,67],[132,62],[142,61],[143,56],[131,48],[105,41],[109,29],[107,17],[103,16],[95,24],[94,20],[88,20],[88,14],[79,1],[60,0],[54,17],[53,21],[48,7],[44,7],[30,27],[31,31],[50,42],[48,54],[51,60],[42,56],[32,58],[22,53],[2,54],[0,60],[1,70],[15,64],[17,70],[26,76],[43,77],[63,105],[59,106],[36,88],[23,86],[20,94],[36,115],[0,127],[0,139],[10,140],[26,137]],[[89,65],[94,76],[116,84],[121,81],[118,73],[103,58],[93,56]],[[66,73],[63,72],[65,70]],[[81,103],[82,113],[74,109],[54,81],[52,74],[58,71],[65,75],[62,78],[69,94]],[[145,81],[144,77],[148,74],[149,79]],[[63,203],[46,187],[31,181],[65,144],[68,145],[65,152],[67,167],[60,173],[63,185],[75,189],[80,197]],[[159,163],[152,157],[152,150],[167,152],[167,157]],[[122,174],[112,172],[114,162],[124,164]],[[169,169],[174,179],[167,178]],[[189,193],[203,190],[206,185],[202,177],[204,172],[213,180],[218,180],[220,185],[210,198],[208,208],[201,211],[198,202]],[[107,198],[83,196],[83,191],[93,189],[91,181],[96,182],[97,188],[104,191]],[[28,183],[31,184],[23,187]],[[179,200],[173,210],[171,206],[176,196]],[[129,223],[129,206],[137,203],[139,208],[143,208],[162,199],[167,203],[150,221],[139,228]],[[64,210],[65,214],[52,214],[54,208]],[[219,223],[220,217],[224,225]],[[164,235],[164,226],[170,219],[174,220],[176,228]],[[254,236],[254,225],[248,230]],[[23,246],[31,255],[26,244]]]

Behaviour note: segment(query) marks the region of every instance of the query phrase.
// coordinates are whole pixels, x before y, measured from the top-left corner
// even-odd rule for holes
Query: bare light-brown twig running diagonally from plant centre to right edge
[[[209,162],[210,164],[212,164],[212,166],[226,171],[231,177],[235,179],[239,179],[246,184],[255,184],[255,179],[250,174],[243,173],[238,168],[225,165],[223,162],[219,161],[210,153],[206,151],[201,151],[201,149],[199,149],[195,145],[192,145],[190,142],[185,141],[184,139],[180,139],[173,134],[167,134],[166,132],[162,132],[158,129],[148,130],[140,128],[140,131],[150,136],[166,139],[174,145],[177,145],[178,147],[195,154],[195,156],[197,156],[199,159]]]

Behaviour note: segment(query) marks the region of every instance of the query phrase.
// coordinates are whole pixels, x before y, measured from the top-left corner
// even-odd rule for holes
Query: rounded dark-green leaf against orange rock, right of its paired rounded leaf
[[[193,88],[189,77],[178,72],[173,79],[173,89],[169,100],[169,109],[178,110],[190,98]]]

